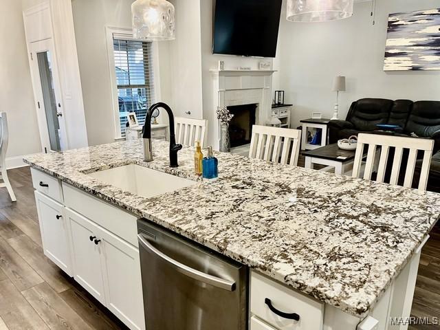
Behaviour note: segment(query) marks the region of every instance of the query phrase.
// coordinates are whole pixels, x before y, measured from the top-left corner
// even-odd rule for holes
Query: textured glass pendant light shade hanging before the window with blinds
[[[174,6],[166,0],[136,0],[131,4],[133,37],[148,41],[175,39]]]

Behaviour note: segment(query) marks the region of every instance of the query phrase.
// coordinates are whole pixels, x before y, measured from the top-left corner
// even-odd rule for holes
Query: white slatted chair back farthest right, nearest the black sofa
[[[353,164],[353,177],[360,177],[363,158],[362,155],[364,154],[364,146],[366,145],[368,145],[369,149],[366,155],[363,178],[366,180],[371,180],[373,167],[375,162],[377,162],[377,159],[375,159],[377,147],[380,147],[381,150],[379,156],[379,165],[377,166],[376,179],[376,181],[379,182],[384,182],[386,164],[388,162],[388,153],[390,151],[390,148],[395,149],[390,179],[390,184],[392,185],[397,185],[404,149],[409,150],[408,163],[406,164],[404,179],[404,187],[408,188],[411,188],[412,179],[414,178],[415,163],[417,161],[417,151],[422,151],[423,162],[421,165],[419,190],[426,190],[426,184],[428,183],[428,175],[431,164],[432,150],[434,148],[434,140],[415,137],[360,133],[358,135],[358,146],[356,147],[355,160]]]

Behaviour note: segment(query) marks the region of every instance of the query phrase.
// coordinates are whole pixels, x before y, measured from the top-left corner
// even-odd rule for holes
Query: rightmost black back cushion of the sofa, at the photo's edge
[[[434,137],[440,133],[440,102],[417,101],[405,126],[406,133],[415,133],[419,137]]]

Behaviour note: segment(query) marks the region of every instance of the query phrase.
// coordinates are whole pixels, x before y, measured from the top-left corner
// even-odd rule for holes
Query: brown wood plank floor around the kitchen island
[[[127,329],[43,255],[30,170],[8,173],[17,202],[0,189],[0,330]],[[422,250],[412,315],[440,318],[439,228]]]

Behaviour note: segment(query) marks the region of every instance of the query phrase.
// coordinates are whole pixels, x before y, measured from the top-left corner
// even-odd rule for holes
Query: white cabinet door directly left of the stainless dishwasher
[[[102,272],[107,308],[130,329],[145,329],[139,250],[102,229]]]

